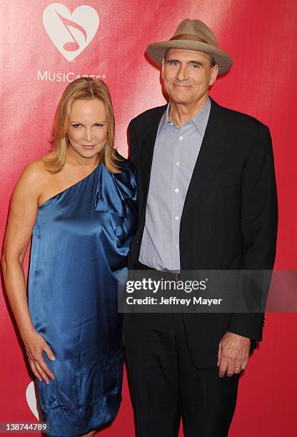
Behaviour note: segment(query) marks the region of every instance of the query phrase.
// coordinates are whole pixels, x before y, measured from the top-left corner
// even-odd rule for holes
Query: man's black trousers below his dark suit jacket
[[[136,437],[176,437],[181,416],[186,437],[228,436],[239,376],[219,378],[217,366],[194,366],[183,313],[128,317],[126,366]]]

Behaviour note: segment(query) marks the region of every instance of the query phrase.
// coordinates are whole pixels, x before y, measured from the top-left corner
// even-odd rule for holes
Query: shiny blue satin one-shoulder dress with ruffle
[[[124,351],[118,283],[136,229],[131,164],[85,179],[39,206],[29,271],[34,328],[56,357],[56,377],[39,382],[50,436],[79,436],[109,423],[121,403]]]

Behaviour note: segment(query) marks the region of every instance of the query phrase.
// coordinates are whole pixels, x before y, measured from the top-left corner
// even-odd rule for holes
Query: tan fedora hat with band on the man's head
[[[158,65],[168,49],[186,49],[203,51],[211,55],[218,64],[218,74],[226,73],[233,64],[230,56],[218,49],[216,36],[211,29],[200,20],[185,19],[178,25],[173,37],[169,41],[150,44],[146,51],[148,56]]]

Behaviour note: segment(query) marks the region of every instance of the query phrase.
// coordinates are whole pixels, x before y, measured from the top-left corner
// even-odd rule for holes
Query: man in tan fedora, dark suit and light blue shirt
[[[269,130],[208,97],[231,68],[211,29],[186,19],[151,44],[169,104],[129,125],[139,228],[131,268],[271,269],[277,201]],[[168,273],[167,273],[168,274]],[[126,360],[138,437],[228,435],[259,313],[131,314]]]

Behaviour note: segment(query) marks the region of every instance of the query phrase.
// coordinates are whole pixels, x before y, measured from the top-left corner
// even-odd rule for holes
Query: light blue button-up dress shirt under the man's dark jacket
[[[146,223],[139,261],[156,270],[180,270],[179,226],[183,204],[211,111],[207,99],[196,117],[180,128],[169,119],[158,126],[153,150]]]

